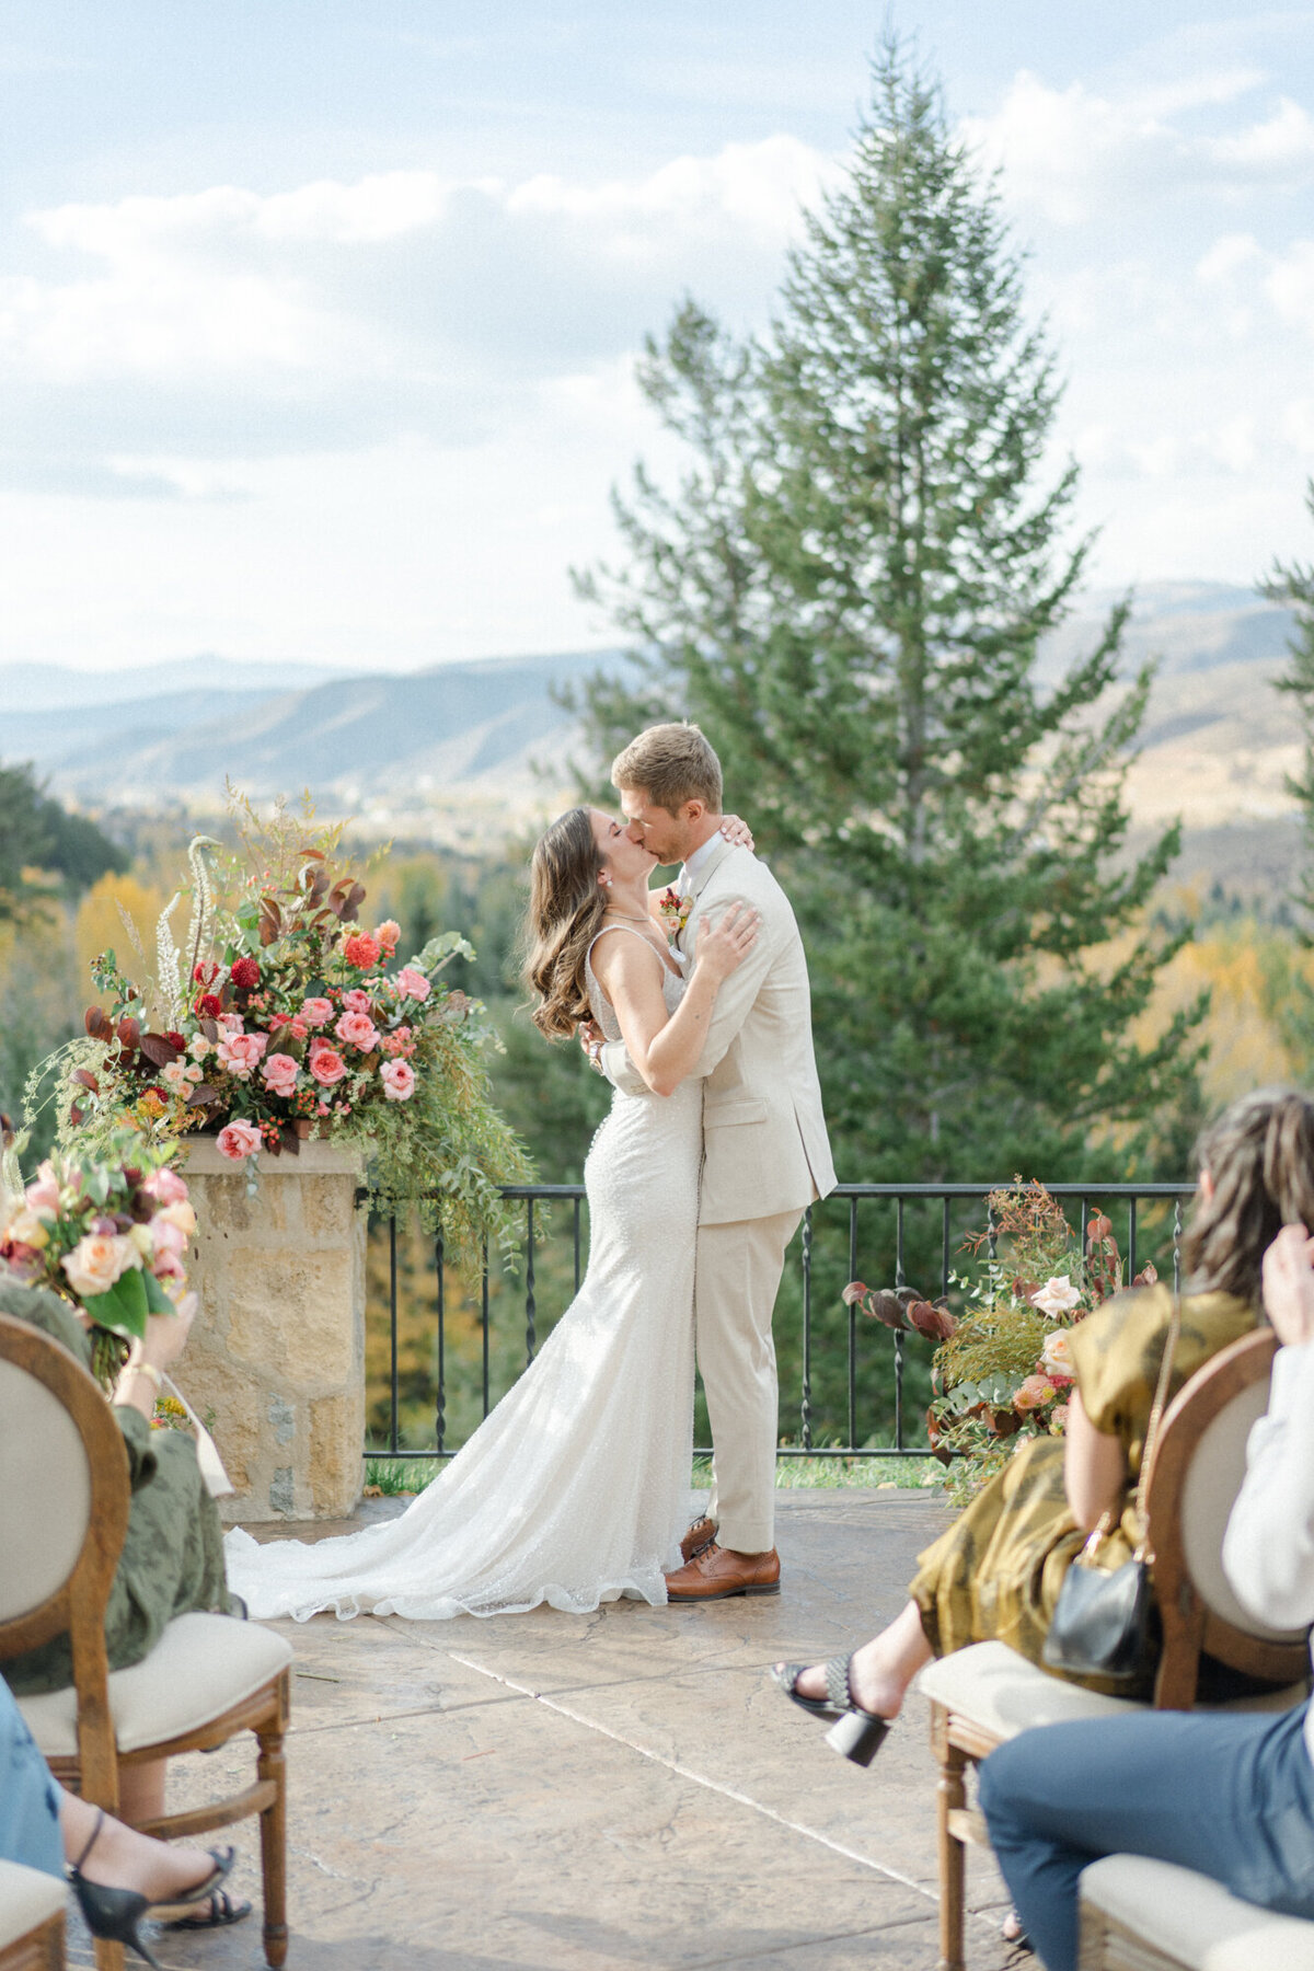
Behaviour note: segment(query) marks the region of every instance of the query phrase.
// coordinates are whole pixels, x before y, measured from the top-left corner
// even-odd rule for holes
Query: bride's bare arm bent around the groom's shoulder
[[[662,993],[662,960],[652,946],[642,948],[628,932],[597,946],[593,974],[611,999],[634,1068],[654,1094],[672,1094],[697,1066],[721,982],[753,950],[756,926],[756,911],[739,903],[717,924],[703,924],[693,976],[672,1015]]]

